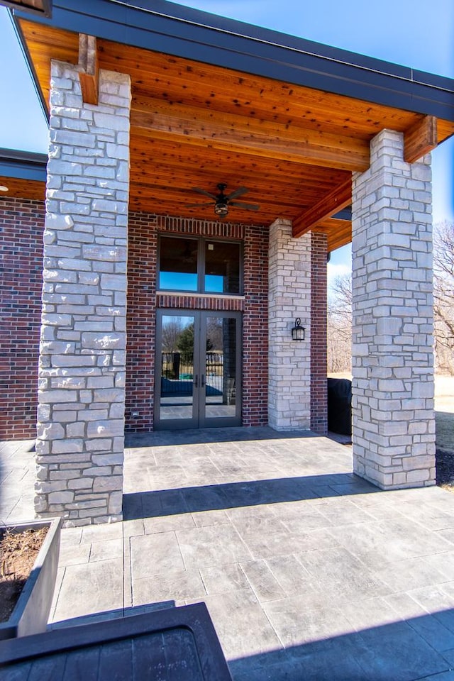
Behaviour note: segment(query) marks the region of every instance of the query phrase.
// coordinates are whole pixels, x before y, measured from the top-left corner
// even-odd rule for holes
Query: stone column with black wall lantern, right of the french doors
[[[268,423],[277,431],[309,429],[311,419],[311,235],[292,238],[292,223],[270,227]],[[292,341],[295,318],[305,341]]]

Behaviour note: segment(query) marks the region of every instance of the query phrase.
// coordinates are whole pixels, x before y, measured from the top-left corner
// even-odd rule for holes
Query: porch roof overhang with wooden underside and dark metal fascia
[[[87,63],[79,33],[100,68],[131,75],[133,210],[211,219],[187,206],[191,187],[244,185],[260,211],[229,219],[292,219],[294,236],[326,231],[332,250],[351,238],[338,212],[375,134],[401,131],[416,160],[454,133],[450,79],[165,0],[56,0],[52,18],[15,17],[46,110],[50,60]]]

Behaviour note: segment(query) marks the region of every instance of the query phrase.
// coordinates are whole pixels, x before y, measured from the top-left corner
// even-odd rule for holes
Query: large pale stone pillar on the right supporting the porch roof
[[[384,489],[433,485],[430,158],[372,140],[353,177],[354,470]]]

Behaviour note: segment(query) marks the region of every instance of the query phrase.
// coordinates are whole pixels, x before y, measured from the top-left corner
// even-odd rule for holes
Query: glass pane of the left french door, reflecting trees
[[[160,419],[192,419],[194,317],[162,316]]]

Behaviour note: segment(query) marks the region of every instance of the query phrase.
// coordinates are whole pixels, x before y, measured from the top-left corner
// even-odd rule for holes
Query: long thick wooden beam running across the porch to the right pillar
[[[227,114],[206,106],[150,98],[146,105],[133,104],[131,128],[153,139],[350,172],[364,172],[370,165],[367,140]]]

